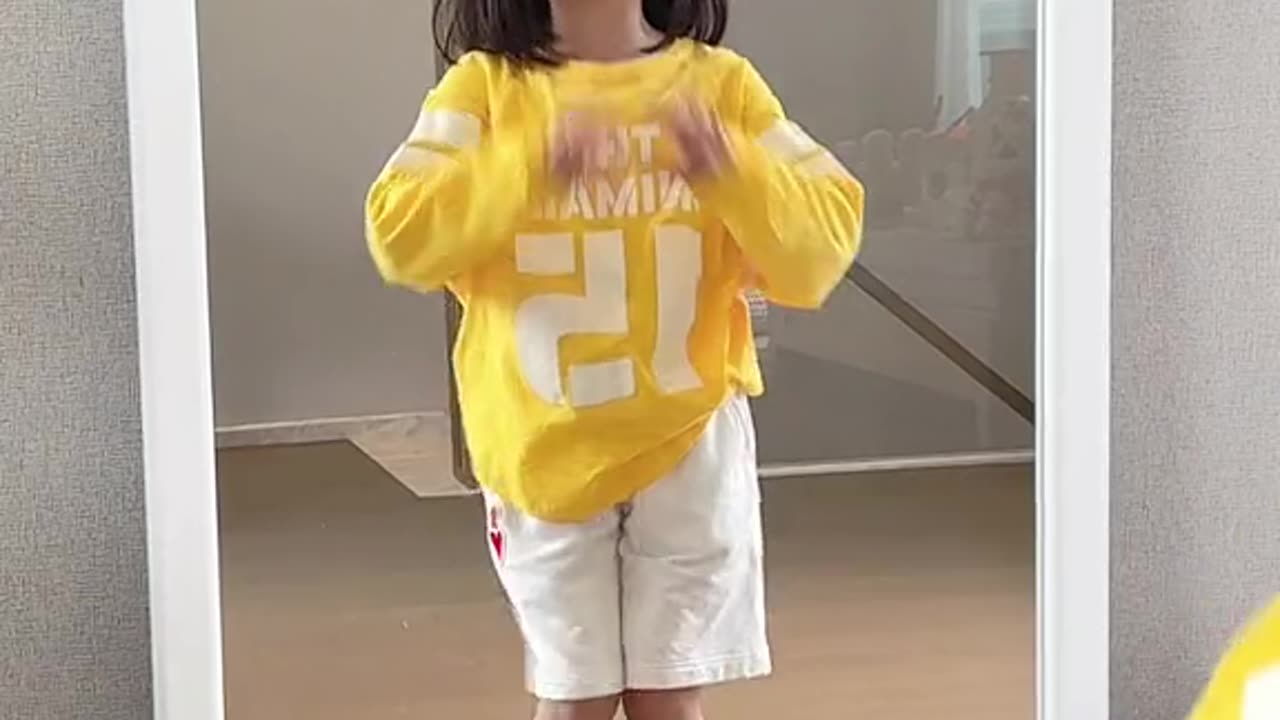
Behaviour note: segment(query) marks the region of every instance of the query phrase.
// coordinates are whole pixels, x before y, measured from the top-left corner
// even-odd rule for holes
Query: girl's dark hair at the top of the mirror
[[[643,0],[645,20],[663,35],[652,50],[687,37],[719,45],[728,0]],[[520,64],[557,64],[550,0],[436,0],[431,17],[435,49],[453,63],[472,50]]]

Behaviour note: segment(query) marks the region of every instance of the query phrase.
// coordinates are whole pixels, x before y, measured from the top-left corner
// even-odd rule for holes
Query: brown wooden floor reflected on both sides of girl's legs
[[[219,456],[230,720],[526,720],[471,497],[346,443]],[[1028,468],[765,486],[777,674],[709,720],[1033,716]]]

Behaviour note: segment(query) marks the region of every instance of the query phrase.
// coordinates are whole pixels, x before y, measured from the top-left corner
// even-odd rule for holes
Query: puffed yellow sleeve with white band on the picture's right
[[[863,233],[863,186],[787,120],[742,60],[740,119],[726,119],[733,172],[700,188],[778,305],[820,306],[849,270]]]

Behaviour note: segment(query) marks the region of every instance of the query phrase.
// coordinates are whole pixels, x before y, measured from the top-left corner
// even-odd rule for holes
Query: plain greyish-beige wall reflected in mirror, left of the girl
[[[218,424],[439,410],[439,297],[392,291],[364,195],[434,82],[430,3],[201,0]]]

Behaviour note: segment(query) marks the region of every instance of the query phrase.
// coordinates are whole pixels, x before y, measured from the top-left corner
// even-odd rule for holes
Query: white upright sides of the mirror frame
[[[223,720],[195,0],[123,0],[155,717]],[[946,1],[946,0],[942,0]],[[1108,716],[1111,0],[1039,0],[1039,720]]]

